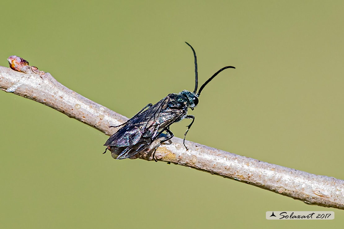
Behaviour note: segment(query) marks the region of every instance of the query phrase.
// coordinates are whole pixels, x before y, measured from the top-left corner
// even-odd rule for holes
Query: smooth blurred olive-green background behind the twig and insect
[[[202,92],[188,140],[344,179],[343,1],[3,1],[0,65],[18,55],[131,117]],[[206,172],[102,155],[107,136],[0,91],[1,228],[340,227],[311,206]],[[183,137],[189,121],[174,124]],[[270,210],[335,212],[271,221]]]

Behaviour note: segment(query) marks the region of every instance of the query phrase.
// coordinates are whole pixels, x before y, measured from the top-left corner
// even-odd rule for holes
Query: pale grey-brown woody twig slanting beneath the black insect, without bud
[[[0,89],[43,103],[106,135],[117,129],[128,118],[97,104],[57,82],[50,73],[23,73],[0,66]],[[270,164],[256,159],[203,146],[174,137],[171,144],[161,145],[158,160],[192,167],[255,185],[308,204],[344,209],[344,181],[332,177]],[[139,158],[152,160],[151,148]]]

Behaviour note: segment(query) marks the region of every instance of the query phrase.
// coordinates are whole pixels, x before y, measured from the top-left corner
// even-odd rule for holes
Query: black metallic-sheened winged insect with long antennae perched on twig
[[[189,45],[187,42],[185,42]],[[197,92],[198,75],[197,75],[197,58],[195,50],[189,45],[193,51],[195,58],[195,90],[190,92],[184,90],[178,94],[169,94],[156,104],[151,103],[143,107],[142,110],[135,116],[130,118],[115,134],[113,134],[104,144],[106,150],[110,150],[112,153],[118,155],[117,159],[130,158],[149,147],[154,140],[159,138],[160,134],[165,131],[169,137],[160,141],[155,150],[165,141],[168,141],[173,137],[173,133],[170,131],[170,125],[179,122],[184,118],[192,119],[192,122],[187,126],[187,130],[184,134],[184,146],[185,137],[195,117],[193,115],[187,115],[187,110],[191,110],[198,104],[198,97],[201,91],[207,83],[209,83],[218,73],[227,68],[234,68],[232,66],[224,67],[218,70],[211,78],[209,78]],[[110,127],[119,127],[110,126]],[[187,147],[185,146],[187,149]],[[104,152],[104,153],[105,153]],[[155,151],[154,151],[155,153]],[[153,153],[153,159],[154,158]]]

